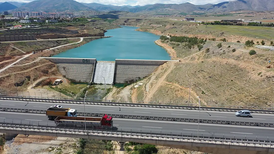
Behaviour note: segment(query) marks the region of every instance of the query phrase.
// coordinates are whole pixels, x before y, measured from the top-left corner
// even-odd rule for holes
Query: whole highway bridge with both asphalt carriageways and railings
[[[54,103],[56,104],[56,103]],[[23,130],[19,129],[25,127],[27,124],[34,126],[44,126],[44,127],[50,127],[51,129],[56,129],[54,121],[49,121],[47,116],[43,113],[44,110],[46,110],[49,106],[52,106],[53,103],[51,102],[38,102],[38,101],[14,101],[14,100],[0,100],[0,122],[4,127],[0,127],[0,132],[3,133],[13,133],[13,134],[19,134],[22,133]],[[84,112],[84,106],[82,104],[70,104],[70,103],[59,103],[59,105],[62,105],[63,107],[70,107],[77,109],[77,112]],[[120,107],[120,108],[119,108]],[[195,150],[195,151],[202,151],[207,153],[225,153],[228,150],[224,149],[241,149],[242,147],[263,147],[266,148],[262,151],[265,153],[272,153],[272,142],[274,143],[274,136],[270,136],[273,134],[274,129],[274,114],[260,114],[260,113],[252,113],[252,117],[249,118],[243,118],[243,117],[236,117],[233,112],[220,112],[220,111],[201,111],[200,112],[200,120],[209,122],[200,122],[199,123],[199,139],[198,140],[199,146],[197,146],[196,142],[194,142],[192,139],[188,140],[189,142],[192,142],[192,144],[186,144],[185,138],[189,138],[189,136],[192,136],[192,138],[197,138],[197,132],[198,132],[198,123],[196,121],[180,121],[179,119],[198,119],[199,111],[197,110],[188,110],[188,109],[166,109],[166,108],[153,108],[153,107],[132,107],[132,106],[104,106],[104,105],[93,105],[93,104],[86,104],[85,105],[85,111],[87,113],[96,113],[96,114],[112,114],[117,115],[118,118],[113,119],[113,125],[116,132],[119,132],[124,134],[122,131],[127,132],[139,132],[140,134],[156,134],[158,135],[175,135],[179,136],[180,141],[173,141],[173,142],[180,142],[180,143],[172,143],[167,144],[166,142],[156,142],[152,140],[151,138],[149,140],[134,140],[135,142],[139,143],[149,143],[149,144],[156,144],[156,145],[162,145],[162,146],[168,146],[168,147],[176,147],[176,148],[182,148],[182,149],[189,149],[189,150]],[[17,111],[17,110],[7,110],[7,108],[13,108],[13,109],[20,109],[25,111]],[[36,112],[30,112],[31,110]],[[119,111],[120,110],[120,111]],[[38,112],[41,111],[41,112]],[[267,111],[265,111],[267,113]],[[124,115],[121,116],[121,115]],[[120,116],[120,117],[119,117]],[[113,116],[115,117],[115,116]],[[127,117],[127,118],[125,118]],[[129,118],[131,117],[131,118]],[[146,117],[146,118],[143,118]],[[163,119],[153,119],[151,117],[167,117],[167,118],[176,118],[176,120],[163,120]],[[210,121],[234,121],[239,122],[238,124],[231,124],[231,123],[212,123]],[[10,123],[9,128],[15,128],[16,130],[10,130],[7,129],[7,123]],[[249,123],[249,124],[247,124]],[[250,123],[257,123],[257,124],[250,124]],[[20,124],[20,125],[18,125]],[[258,125],[259,124],[259,125]],[[12,127],[11,127],[12,125]],[[64,131],[64,130],[62,130]],[[82,130],[84,131],[84,130]],[[97,131],[97,130],[90,130],[90,131]],[[24,132],[24,131],[23,131]],[[35,129],[30,131],[35,135],[45,135],[42,133],[42,130]],[[30,132],[24,132],[23,134],[30,135]],[[101,130],[102,132],[102,130]],[[104,131],[103,131],[104,132]],[[53,135],[58,136],[62,133],[48,133],[46,135]],[[120,134],[121,135],[121,134]],[[126,134],[124,134],[126,135]],[[59,135],[60,136],[60,135]],[[62,136],[62,135],[61,135]],[[96,136],[96,135],[95,135]],[[188,137],[187,137],[188,136]],[[74,136],[75,137],[75,136]],[[170,136],[169,136],[170,137]],[[83,136],[76,138],[85,138]],[[104,137],[103,137],[104,138]],[[121,137],[118,141],[129,141],[129,139],[124,140],[124,136]],[[130,137],[132,139],[132,137]],[[206,138],[204,140],[204,138]],[[102,138],[101,138],[102,139]],[[208,139],[208,140],[207,140]],[[225,139],[226,141],[216,141],[216,145],[229,145],[229,146],[223,146],[219,147],[216,146],[213,143],[209,143],[209,139],[215,139],[221,140]],[[239,142],[236,142],[236,139],[239,140]],[[112,139],[104,139],[104,140],[114,140]],[[117,140],[117,139],[115,139]],[[228,141],[230,140],[230,141]],[[231,142],[232,140],[232,142]],[[132,141],[132,140],[130,140]],[[206,143],[204,143],[204,141]],[[233,142],[235,141],[235,142]],[[249,143],[244,143],[242,141],[248,141]],[[181,143],[182,142],[182,143]],[[253,142],[255,142],[253,144]],[[258,144],[257,144],[258,142]],[[232,146],[233,143],[233,146]],[[234,145],[234,143],[238,145]],[[244,143],[244,144],[240,144]],[[251,146],[248,146],[246,144],[252,144]],[[173,145],[173,146],[172,146]],[[177,146],[175,146],[177,145]],[[214,145],[214,146],[213,146]],[[260,146],[257,146],[260,145]],[[268,147],[267,147],[268,145]],[[237,147],[234,147],[237,146]],[[197,148],[199,147],[199,148]],[[208,148],[205,148],[208,147]],[[209,148],[210,147],[210,148]],[[239,148],[241,147],[241,148]],[[219,150],[216,150],[219,149]],[[221,150],[221,151],[220,151]],[[224,151],[222,151],[224,150]],[[244,151],[261,151],[261,150],[255,150],[255,149],[241,149]],[[261,152],[262,152],[261,151]],[[239,152],[239,151],[238,151]],[[252,153],[248,152],[248,153]],[[258,152],[258,153],[261,153]],[[231,152],[234,153],[234,152]]]

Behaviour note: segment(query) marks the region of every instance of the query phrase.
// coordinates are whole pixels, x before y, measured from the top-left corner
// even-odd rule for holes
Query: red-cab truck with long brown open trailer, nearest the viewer
[[[112,117],[104,115],[102,118],[93,117],[64,117],[59,116],[55,120],[56,126],[61,127],[81,127],[81,128],[93,128],[93,129],[112,129],[113,121]]]

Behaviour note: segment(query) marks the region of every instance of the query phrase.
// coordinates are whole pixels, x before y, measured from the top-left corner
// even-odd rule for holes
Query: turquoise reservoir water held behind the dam
[[[93,40],[52,57],[96,58],[102,61],[114,61],[115,59],[171,59],[162,47],[154,43],[160,36],[135,31],[137,27],[121,27],[123,28],[107,30],[105,36],[113,37]]]

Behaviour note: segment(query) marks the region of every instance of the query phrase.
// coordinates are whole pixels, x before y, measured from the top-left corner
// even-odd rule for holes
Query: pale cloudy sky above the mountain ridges
[[[13,2],[31,2],[33,0],[12,0]],[[77,2],[83,2],[83,3],[99,3],[99,4],[112,4],[112,5],[147,5],[147,4],[155,4],[155,3],[161,3],[161,4],[182,4],[185,2],[189,2],[195,5],[203,5],[207,3],[211,4],[218,4],[220,2],[225,1],[232,1],[232,0],[75,0]]]

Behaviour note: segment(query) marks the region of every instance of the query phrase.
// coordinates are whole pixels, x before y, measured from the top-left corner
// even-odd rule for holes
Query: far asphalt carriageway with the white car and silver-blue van
[[[46,110],[48,107],[56,105],[56,103],[43,102],[28,102],[26,101],[9,101],[0,100],[0,107],[17,108],[17,109],[35,109]],[[73,108],[77,112],[84,112],[83,104],[66,104],[59,103],[58,105],[64,108]],[[86,113],[101,113],[101,114],[119,114],[119,115],[138,115],[138,116],[152,116],[152,117],[172,117],[172,118],[189,118],[198,119],[199,111],[197,110],[183,110],[183,109],[156,109],[149,107],[119,107],[117,106],[103,106],[103,105],[85,105]],[[211,116],[210,116],[210,115]],[[274,123],[274,114],[252,114],[252,117],[236,117],[234,112],[220,112],[220,111],[201,111],[200,119],[203,120],[223,120],[223,121],[241,121],[241,122],[255,122],[255,123]]]

